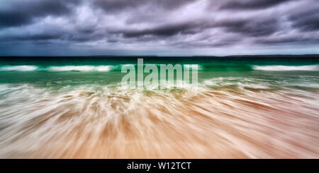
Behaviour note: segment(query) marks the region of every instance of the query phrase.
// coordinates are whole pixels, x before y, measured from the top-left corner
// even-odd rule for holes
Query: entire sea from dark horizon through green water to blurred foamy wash
[[[138,58],[197,65],[196,93],[123,88]],[[318,143],[319,56],[0,57],[1,158],[318,158]]]

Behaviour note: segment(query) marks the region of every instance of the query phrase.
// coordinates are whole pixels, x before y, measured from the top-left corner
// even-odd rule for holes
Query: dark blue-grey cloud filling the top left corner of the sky
[[[36,17],[64,15],[71,12],[70,4],[77,4],[78,2],[77,0],[5,0],[5,2],[1,2],[5,3],[6,7],[0,8],[0,28],[26,25]]]

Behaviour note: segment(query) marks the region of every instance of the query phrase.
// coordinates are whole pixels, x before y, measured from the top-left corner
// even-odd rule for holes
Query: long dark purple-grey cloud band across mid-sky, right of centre
[[[167,25],[147,28],[145,30],[125,30],[124,37],[142,37],[145,35],[157,35],[169,37],[173,35],[191,35],[209,28],[223,28],[226,32],[233,32],[250,37],[271,35],[279,30],[279,23],[276,18],[248,18],[248,19],[227,19],[227,20],[196,20],[185,23],[170,23]]]

